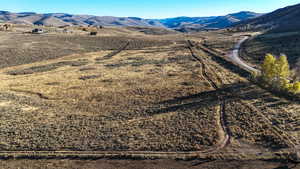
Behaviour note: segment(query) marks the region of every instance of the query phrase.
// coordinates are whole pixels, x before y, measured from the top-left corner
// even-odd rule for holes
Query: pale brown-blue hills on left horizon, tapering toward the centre
[[[112,17],[71,15],[64,13],[37,14],[32,12],[11,13],[0,11],[0,20],[15,24],[63,26],[63,25],[103,25],[103,26],[156,26],[162,27],[158,22],[135,17]]]

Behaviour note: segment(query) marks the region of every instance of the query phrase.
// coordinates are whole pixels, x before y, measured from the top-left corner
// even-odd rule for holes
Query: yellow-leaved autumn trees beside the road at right
[[[259,80],[264,86],[293,94],[300,93],[300,82],[291,80],[290,66],[285,55],[276,58],[267,54],[261,68]]]

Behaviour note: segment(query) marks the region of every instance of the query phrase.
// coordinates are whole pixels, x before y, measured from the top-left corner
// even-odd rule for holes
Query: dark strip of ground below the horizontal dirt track
[[[267,161],[176,161],[176,160],[8,160],[0,161],[5,169],[299,169],[287,162]]]

